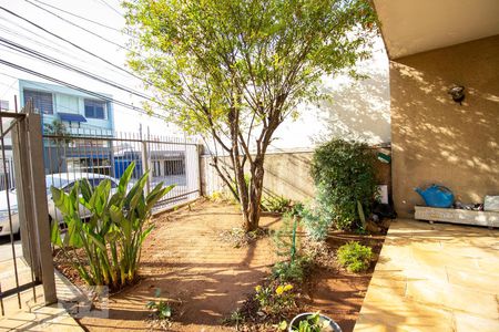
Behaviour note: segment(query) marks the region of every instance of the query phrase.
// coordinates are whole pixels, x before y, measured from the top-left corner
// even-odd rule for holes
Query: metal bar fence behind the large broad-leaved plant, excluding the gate
[[[43,146],[47,183],[68,186],[79,178],[104,177],[118,181],[135,163],[132,183],[149,170],[147,190],[159,183],[175,185],[154,211],[192,200],[201,193],[198,145],[183,137],[77,128],[62,135],[44,134]]]

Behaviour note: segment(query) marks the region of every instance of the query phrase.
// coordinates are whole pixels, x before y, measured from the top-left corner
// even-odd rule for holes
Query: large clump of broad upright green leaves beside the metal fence
[[[135,280],[142,242],[153,228],[146,224],[151,209],[174,187],[163,188],[161,183],[145,195],[145,173],[128,191],[134,168],[134,163],[126,168],[115,193],[111,191],[109,179],[95,188],[88,179],[77,181],[69,194],[51,188],[53,201],[68,225],[61,237],[58,222],[52,222],[51,241],[91,286],[119,289]],[[91,214],[88,222],[80,219],[81,207]],[[84,252],[84,260],[80,259],[80,251]]]

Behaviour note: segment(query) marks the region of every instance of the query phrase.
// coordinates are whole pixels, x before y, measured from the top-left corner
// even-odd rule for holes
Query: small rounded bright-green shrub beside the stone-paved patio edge
[[[369,247],[352,241],[339,247],[337,252],[339,263],[350,272],[364,272],[369,268],[373,251]]]

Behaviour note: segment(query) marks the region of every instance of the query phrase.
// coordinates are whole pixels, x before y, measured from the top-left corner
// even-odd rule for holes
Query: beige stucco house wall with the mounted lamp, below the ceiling
[[[447,91],[466,87],[462,105]],[[499,35],[390,63],[393,193],[399,216],[439,183],[464,203],[499,195]]]

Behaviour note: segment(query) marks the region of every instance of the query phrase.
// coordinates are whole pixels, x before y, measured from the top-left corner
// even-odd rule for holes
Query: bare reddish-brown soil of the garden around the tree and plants
[[[155,218],[156,228],[146,239],[141,259],[139,282],[109,300],[109,319],[83,318],[80,323],[90,331],[109,329],[144,330],[154,328],[147,321],[145,304],[161,298],[174,307],[172,331],[224,331],[227,318],[254,288],[269,276],[277,261],[269,237],[258,237],[240,248],[221,239],[221,234],[241,224],[237,208],[227,204],[200,201]],[[264,215],[261,226],[277,229],[279,216]],[[384,236],[359,236],[334,232],[328,239],[333,250],[358,240],[379,253]],[[344,331],[352,331],[374,270],[349,273],[336,266],[315,268],[304,284],[302,304],[309,311],[336,320]]]

